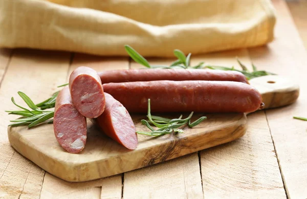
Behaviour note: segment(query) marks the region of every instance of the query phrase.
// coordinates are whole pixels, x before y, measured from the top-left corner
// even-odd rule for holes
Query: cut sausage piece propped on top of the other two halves
[[[87,118],[103,113],[105,99],[97,72],[89,67],[75,69],[69,78],[69,88],[77,110]]]

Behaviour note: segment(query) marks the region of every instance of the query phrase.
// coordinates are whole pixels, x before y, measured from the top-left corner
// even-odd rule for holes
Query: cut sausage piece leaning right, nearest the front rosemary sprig
[[[138,145],[136,127],[126,108],[111,95],[105,95],[105,109],[102,115],[94,120],[100,129],[110,138],[128,149]]]

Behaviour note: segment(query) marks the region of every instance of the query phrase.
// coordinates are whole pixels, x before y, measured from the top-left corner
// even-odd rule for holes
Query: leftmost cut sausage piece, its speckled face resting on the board
[[[69,87],[55,101],[53,129],[58,143],[70,153],[80,152],[86,143],[86,119],[73,104]]]

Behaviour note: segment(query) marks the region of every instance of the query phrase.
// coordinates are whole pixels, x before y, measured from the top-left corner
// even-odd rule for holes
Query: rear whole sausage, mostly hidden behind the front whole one
[[[222,71],[211,69],[135,69],[111,70],[98,73],[102,84],[158,81],[158,80],[207,80],[207,81],[238,81],[249,83],[247,78],[237,71]]]

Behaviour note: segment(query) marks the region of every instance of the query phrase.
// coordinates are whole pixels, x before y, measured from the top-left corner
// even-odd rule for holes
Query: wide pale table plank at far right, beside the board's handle
[[[307,123],[293,116],[307,117],[307,56],[287,5],[273,1],[277,10],[275,40],[267,47],[249,49],[252,61],[260,69],[294,77],[300,83],[296,103],[267,110],[267,120],[288,198],[307,197]]]

